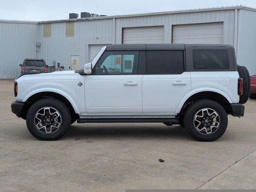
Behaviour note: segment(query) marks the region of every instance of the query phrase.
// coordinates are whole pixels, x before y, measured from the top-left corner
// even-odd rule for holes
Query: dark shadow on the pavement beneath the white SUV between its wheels
[[[194,140],[181,126],[128,126],[128,125],[87,125],[74,124],[62,139],[118,139],[118,138],[168,138]]]

